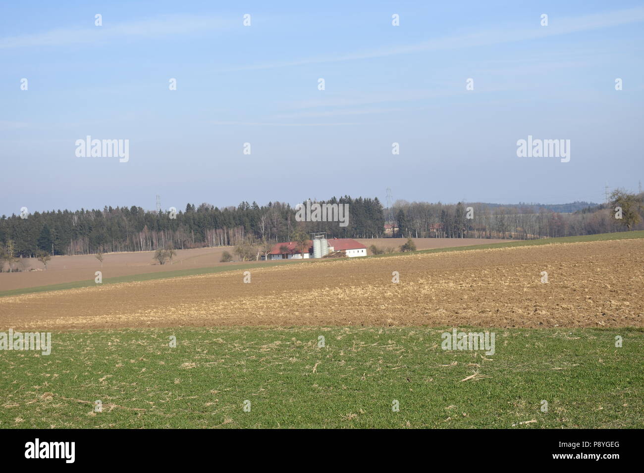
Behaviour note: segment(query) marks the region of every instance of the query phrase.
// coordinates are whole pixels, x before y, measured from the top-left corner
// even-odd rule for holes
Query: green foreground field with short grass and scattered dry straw
[[[0,351],[0,428],[644,427],[642,329],[496,329],[489,356],[445,330],[53,333],[51,355]]]

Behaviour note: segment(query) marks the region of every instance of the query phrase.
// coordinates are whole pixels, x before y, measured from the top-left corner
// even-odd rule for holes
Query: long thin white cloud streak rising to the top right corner
[[[493,44],[501,44],[506,42],[527,41],[531,39],[540,39],[550,36],[565,35],[569,33],[598,30],[601,28],[612,28],[614,26],[620,26],[629,23],[639,23],[641,21],[644,21],[644,7],[582,15],[579,17],[550,17],[549,26],[540,26],[538,20],[538,17],[536,17],[535,21],[532,24],[522,26],[522,28],[486,30],[465,35],[455,35],[438,39],[431,39],[416,44],[393,46],[391,48],[380,48],[376,50],[362,51],[345,55],[312,57],[307,59],[292,60],[289,62],[251,64],[249,66],[228,68],[225,71],[261,70],[290,66],[305,66],[307,64],[320,64],[324,62],[373,59],[377,57],[411,54],[425,51],[451,50],[459,48],[471,48],[475,46],[491,46]]]

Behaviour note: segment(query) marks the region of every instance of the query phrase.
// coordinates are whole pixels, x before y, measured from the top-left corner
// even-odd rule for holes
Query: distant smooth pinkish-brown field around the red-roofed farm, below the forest
[[[386,246],[399,248],[406,239],[381,238],[361,239],[359,241],[367,247],[376,245],[383,248]],[[418,250],[445,248],[446,246],[481,245],[502,241],[506,240],[477,238],[414,239]],[[24,260],[28,265],[27,271],[0,273],[0,291],[47,286],[48,284],[73,283],[75,281],[92,281],[96,271],[101,271],[104,278],[109,278],[189,268],[232,266],[235,263],[220,263],[220,259],[222,259],[224,251],[233,254],[233,250],[232,246],[177,250],[176,257],[173,258],[173,264],[155,264],[152,259],[154,252],[108,253],[103,255],[102,267],[95,255],[54,256],[47,264],[46,271],[42,270],[44,266],[40,261],[35,258],[28,258]],[[243,264],[249,264],[249,262],[247,261]],[[29,271],[29,269],[39,269],[41,271]]]

